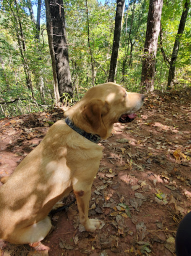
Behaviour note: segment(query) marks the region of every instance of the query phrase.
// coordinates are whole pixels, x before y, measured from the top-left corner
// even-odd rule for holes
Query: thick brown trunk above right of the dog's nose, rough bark
[[[163,0],[150,0],[149,3],[141,74],[141,87],[147,91],[154,90],[155,62],[160,32],[162,5]]]

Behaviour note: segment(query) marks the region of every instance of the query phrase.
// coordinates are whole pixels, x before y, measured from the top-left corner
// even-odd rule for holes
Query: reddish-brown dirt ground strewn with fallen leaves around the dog
[[[10,175],[62,118],[62,109],[53,109],[0,120],[0,176]],[[148,94],[136,120],[115,124],[100,145],[89,210],[100,229],[84,231],[73,203],[52,215],[54,229],[42,241],[49,251],[8,244],[4,256],[175,255],[178,224],[191,210],[191,90]]]

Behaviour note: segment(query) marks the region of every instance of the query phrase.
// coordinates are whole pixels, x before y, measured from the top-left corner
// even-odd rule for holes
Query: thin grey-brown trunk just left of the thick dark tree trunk
[[[58,80],[57,80],[57,69],[56,69],[56,63],[55,63],[55,54],[54,54],[54,48],[53,48],[53,28],[52,28],[52,20],[50,15],[50,5],[49,0],[45,0],[45,8],[46,8],[46,20],[47,20],[47,35],[48,35],[48,41],[49,41],[49,50],[50,50],[50,56],[52,60],[52,73],[53,73],[53,79],[54,79],[54,97],[55,102],[58,104],[60,101],[60,95],[58,90]]]

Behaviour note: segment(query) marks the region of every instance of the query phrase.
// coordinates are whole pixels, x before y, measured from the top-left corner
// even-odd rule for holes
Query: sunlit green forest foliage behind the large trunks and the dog
[[[185,2],[189,3],[163,0],[154,68],[154,89],[160,91],[167,89],[170,61]],[[62,9],[73,93],[63,92],[63,102],[60,101],[72,104],[91,86],[108,81],[116,1],[66,0]],[[148,12],[149,0],[125,1],[115,81],[129,91],[143,89],[141,72]],[[0,117],[58,105],[44,0],[2,0],[0,28]],[[191,85],[190,10],[183,34],[177,40],[180,47],[171,88],[182,89]]]

